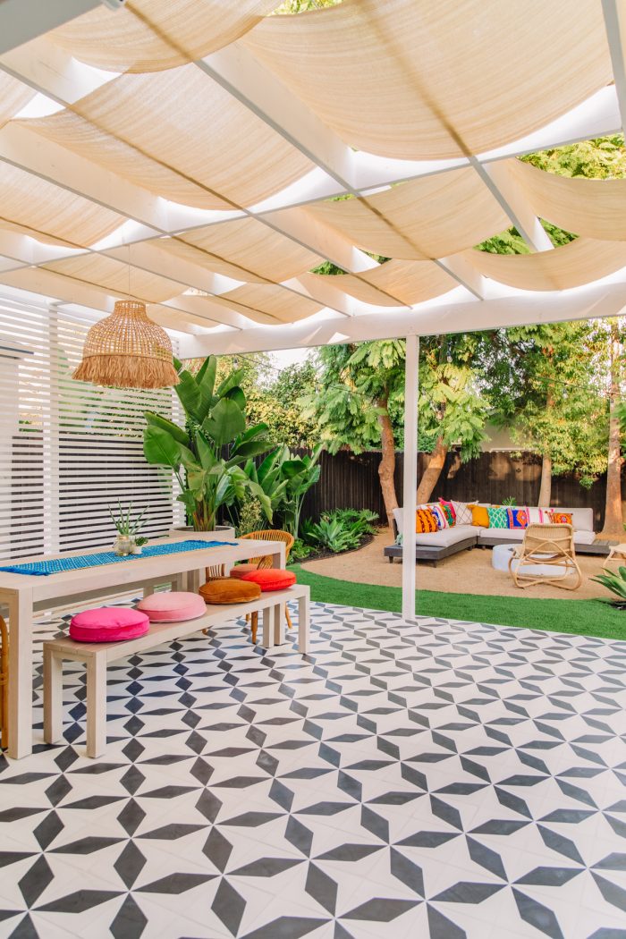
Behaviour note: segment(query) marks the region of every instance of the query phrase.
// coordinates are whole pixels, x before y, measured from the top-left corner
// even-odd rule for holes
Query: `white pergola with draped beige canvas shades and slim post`
[[[516,159],[621,131],[626,4],[275,7],[0,5],[0,287],[144,300],[185,357],[405,336],[411,531],[420,334],[626,304],[626,180]]]

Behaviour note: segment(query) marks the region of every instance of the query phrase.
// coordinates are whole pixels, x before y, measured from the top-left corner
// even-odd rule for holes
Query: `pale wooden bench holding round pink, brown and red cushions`
[[[295,584],[282,591],[262,593],[248,603],[206,608],[206,614],[183,623],[151,623],[144,636],[117,642],[76,642],[49,639],[43,643],[43,736],[47,744],[63,739],[63,662],[84,662],[87,671],[87,756],[99,757],[106,747],[106,670],[109,662],[153,649],[204,629],[230,623],[247,613],[263,613],[263,645],[284,641],[284,605],[298,600],[298,652],[309,650],[310,589]]]

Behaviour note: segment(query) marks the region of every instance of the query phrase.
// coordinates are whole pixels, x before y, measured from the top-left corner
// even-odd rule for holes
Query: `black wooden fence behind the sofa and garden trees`
[[[304,451],[302,451],[304,453]],[[428,454],[420,454],[420,473],[428,463]],[[340,451],[323,453],[319,483],[308,493],[302,516],[318,517],[336,508],[371,509],[385,519],[378,481],[380,453],[353,454]],[[404,454],[396,454],[395,485],[402,502]],[[499,503],[513,497],[518,505],[537,505],[542,463],[535,454],[512,454],[493,451],[461,463],[457,454],[449,454],[433,499],[477,500]],[[580,485],[573,475],[555,476],[552,481],[554,506],[590,507],[596,519],[596,531],[603,525],[606,477],[601,476],[590,488]]]

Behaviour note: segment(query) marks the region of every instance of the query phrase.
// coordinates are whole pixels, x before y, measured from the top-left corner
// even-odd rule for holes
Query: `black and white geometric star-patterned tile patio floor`
[[[0,935],[626,937],[626,643],[319,604],[312,632],[116,663],[97,761],[70,671],[67,743],[0,757]]]

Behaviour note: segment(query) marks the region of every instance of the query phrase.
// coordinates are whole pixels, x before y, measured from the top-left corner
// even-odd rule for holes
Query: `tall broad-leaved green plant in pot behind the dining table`
[[[215,356],[208,356],[196,375],[182,362],[175,360],[175,366],[186,426],[147,411],[145,459],[173,470],[180,487],[176,498],[185,505],[195,531],[212,531],[219,510],[243,499],[246,492],[259,500],[271,521],[271,501],[243,469],[247,460],[267,451],[267,425],[246,429],[246,397],[239,386],[242,371],[232,372],[216,389]]]

